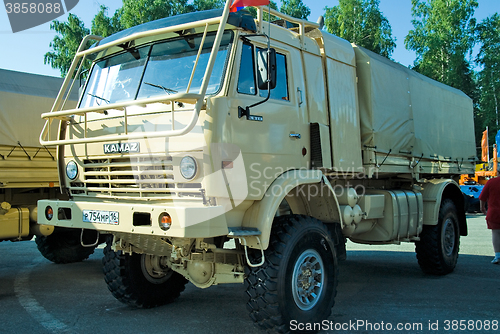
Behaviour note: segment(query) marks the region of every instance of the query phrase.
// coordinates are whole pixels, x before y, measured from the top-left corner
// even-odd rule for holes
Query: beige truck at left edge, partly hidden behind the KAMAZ
[[[52,108],[63,80],[0,69],[0,241],[31,240],[55,263],[82,261],[96,233],[38,225],[37,201],[62,199],[56,150],[40,145],[43,110]],[[72,95],[69,104],[75,106]],[[56,138],[55,133],[52,138]],[[67,199],[67,196],[64,197]]]

